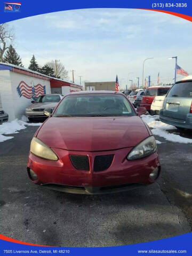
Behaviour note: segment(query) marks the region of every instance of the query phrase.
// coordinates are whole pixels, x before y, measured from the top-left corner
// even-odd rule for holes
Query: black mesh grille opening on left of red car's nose
[[[77,170],[90,170],[89,157],[80,155],[70,155],[70,161]]]

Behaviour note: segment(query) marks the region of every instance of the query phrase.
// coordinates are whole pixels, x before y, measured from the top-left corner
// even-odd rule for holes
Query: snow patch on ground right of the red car
[[[176,128],[173,125],[165,124],[161,121],[157,121],[159,116],[150,116],[150,115],[142,115],[142,120],[147,123],[147,125],[152,129],[151,132],[154,135],[158,135],[159,137],[163,137],[166,140],[178,143],[192,143],[192,139],[183,138],[178,134],[169,133],[167,130],[175,130]],[[157,142],[157,141],[156,141]],[[157,144],[160,141],[157,142]]]

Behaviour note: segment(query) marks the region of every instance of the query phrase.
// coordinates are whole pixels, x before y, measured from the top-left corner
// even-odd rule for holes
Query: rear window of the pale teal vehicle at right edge
[[[192,98],[192,82],[174,84],[167,97]]]

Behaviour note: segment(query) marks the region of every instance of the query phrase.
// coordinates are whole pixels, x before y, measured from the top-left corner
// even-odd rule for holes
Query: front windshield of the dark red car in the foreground
[[[121,94],[74,94],[65,97],[54,117],[135,116],[129,101]]]

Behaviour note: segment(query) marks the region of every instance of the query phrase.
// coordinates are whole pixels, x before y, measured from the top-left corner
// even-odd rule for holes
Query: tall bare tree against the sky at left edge
[[[0,24],[0,62],[4,62],[3,54],[14,39],[13,29],[7,23]]]

